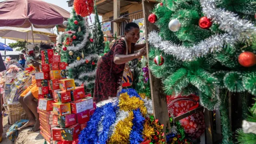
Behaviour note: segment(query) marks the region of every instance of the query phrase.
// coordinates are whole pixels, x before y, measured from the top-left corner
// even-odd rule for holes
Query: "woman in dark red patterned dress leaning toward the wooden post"
[[[140,28],[136,23],[126,24],[125,38],[128,45],[128,55],[126,55],[126,43],[124,39],[120,38],[112,46],[110,52],[102,56],[97,62],[93,96],[95,102],[116,97],[125,63],[146,55],[146,44],[135,45],[140,38]],[[134,51],[138,52],[134,54]]]

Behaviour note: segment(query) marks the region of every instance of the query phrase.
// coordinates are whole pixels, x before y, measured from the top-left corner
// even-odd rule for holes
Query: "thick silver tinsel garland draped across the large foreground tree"
[[[166,54],[172,54],[177,59],[183,61],[195,60],[199,57],[204,57],[208,53],[215,53],[222,50],[224,45],[232,46],[236,42],[244,42],[255,34],[256,27],[248,20],[240,19],[237,14],[227,10],[216,8],[218,0],[201,0],[201,5],[204,14],[212,19],[219,28],[227,32],[226,34],[216,34],[210,38],[202,40],[192,47],[185,47],[173,44],[170,41],[164,41],[157,32],[150,32],[148,41],[155,48],[162,50]]]

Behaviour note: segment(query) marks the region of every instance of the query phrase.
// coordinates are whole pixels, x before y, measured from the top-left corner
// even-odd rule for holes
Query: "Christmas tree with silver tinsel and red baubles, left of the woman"
[[[87,18],[77,15],[74,10],[71,14],[66,32],[57,38],[57,46],[61,60],[68,64],[68,78],[74,78],[76,86],[84,85],[86,92],[93,92],[99,48],[93,46]]]

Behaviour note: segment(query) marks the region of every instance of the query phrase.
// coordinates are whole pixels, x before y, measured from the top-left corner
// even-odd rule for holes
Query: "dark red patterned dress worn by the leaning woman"
[[[131,53],[134,53],[134,44],[132,44]],[[126,54],[126,44],[122,38],[112,46],[108,54],[102,56],[97,62],[94,102],[116,97],[117,89],[120,86],[118,80],[122,78],[125,65],[114,63],[116,54]]]

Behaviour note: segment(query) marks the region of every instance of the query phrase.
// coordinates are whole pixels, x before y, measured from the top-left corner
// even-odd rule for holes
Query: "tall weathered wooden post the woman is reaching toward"
[[[145,24],[145,32],[146,32],[146,48],[147,48],[147,55],[149,54],[149,44],[148,44],[148,34],[152,30],[158,30],[158,28],[154,25],[148,22],[147,18],[151,14],[150,10],[154,7],[154,3],[149,3],[147,0],[142,1],[142,8],[143,8],[143,16],[145,18],[144,24]],[[147,57],[148,66],[149,65],[149,57]],[[166,127],[170,131],[170,121],[169,121],[169,115],[168,115],[168,109],[167,109],[167,103],[166,103],[166,94],[164,94],[162,90],[162,82],[160,79],[155,78],[152,74],[152,72],[149,69],[149,80],[150,80],[150,91],[151,91],[151,98],[152,98],[152,104],[153,104],[153,110],[154,110],[154,116],[156,119],[159,120],[161,124],[164,124],[163,131],[166,132]],[[166,136],[164,137],[166,140]]]

